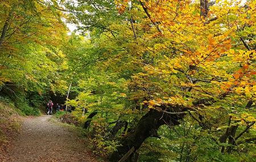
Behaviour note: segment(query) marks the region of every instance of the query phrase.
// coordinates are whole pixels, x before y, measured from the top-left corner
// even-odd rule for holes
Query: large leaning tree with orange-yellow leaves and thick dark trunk
[[[101,15],[105,10],[98,9],[108,4],[112,7],[106,11],[112,14],[106,17]],[[121,139],[122,146],[110,157],[112,161],[129,150],[126,160],[133,159],[144,140],[155,136],[160,126],[175,127],[187,116],[216,137],[210,140],[222,153],[236,151],[238,143],[247,140],[248,130],[253,132],[250,136],[255,134],[251,109],[256,73],[254,1],[242,5],[228,1],[113,4],[82,1],[79,7],[72,6],[77,13],[73,21],[84,25],[80,29],[90,30],[92,45],[104,51],[99,52],[104,59],[93,65],[127,80],[126,103],[132,104],[125,109],[138,111],[141,117],[134,119],[137,126],[130,126],[131,131]],[[90,10],[81,12],[86,7]],[[109,30],[86,28],[83,22],[88,21],[104,22]],[[218,112],[222,118],[216,117]],[[222,123],[214,123],[218,120]]]

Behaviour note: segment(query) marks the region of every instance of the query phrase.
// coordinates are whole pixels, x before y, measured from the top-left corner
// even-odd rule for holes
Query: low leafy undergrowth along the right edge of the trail
[[[58,111],[54,117],[53,120],[61,122],[63,126],[75,127],[83,137],[86,136],[90,142],[90,149],[98,157],[106,159],[119,146],[118,140],[110,138],[107,131],[108,123],[103,118],[93,121],[90,129],[84,129],[82,126],[86,118],[77,115],[76,111],[72,111],[72,113]]]

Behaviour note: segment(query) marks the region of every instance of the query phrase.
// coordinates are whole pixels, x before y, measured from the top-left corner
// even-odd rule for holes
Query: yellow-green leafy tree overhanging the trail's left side
[[[49,90],[63,93],[66,89],[57,72],[67,69],[60,49],[67,30],[60,21],[63,14],[52,4],[1,2],[1,95],[22,102],[32,96],[43,99]]]

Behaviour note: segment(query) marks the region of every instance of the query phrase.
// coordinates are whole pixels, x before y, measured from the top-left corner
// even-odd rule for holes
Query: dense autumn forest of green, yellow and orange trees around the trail
[[[0,9],[1,104],[40,115],[60,103],[56,118],[109,161],[256,161],[255,0]]]

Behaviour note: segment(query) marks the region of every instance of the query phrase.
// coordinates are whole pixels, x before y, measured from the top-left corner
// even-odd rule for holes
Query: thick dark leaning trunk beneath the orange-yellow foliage
[[[134,161],[134,153],[141,147],[141,144],[150,136],[156,136],[158,128],[163,124],[169,124],[170,126],[175,126],[179,124],[178,120],[183,118],[184,114],[166,114],[161,113],[158,110],[151,109],[145,114],[138,122],[137,127],[131,131],[123,140],[121,141],[121,146],[117,147],[115,151],[110,156],[110,161],[118,161],[125,155],[132,147],[134,147],[133,153],[126,161]]]

